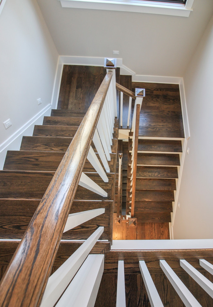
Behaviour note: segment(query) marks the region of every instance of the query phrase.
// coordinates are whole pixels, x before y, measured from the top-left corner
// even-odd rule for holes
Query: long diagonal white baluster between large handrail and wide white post
[[[55,271],[48,279],[44,291],[41,307],[52,307],[55,305],[70,280],[92,250],[93,246],[100,238],[104,227],[98,229]]]

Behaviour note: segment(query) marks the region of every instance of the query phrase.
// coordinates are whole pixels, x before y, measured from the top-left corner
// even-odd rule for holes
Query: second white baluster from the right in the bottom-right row
[[[213,298],[213,283],[198,272],[186,260],[180,260],[180,266]]]

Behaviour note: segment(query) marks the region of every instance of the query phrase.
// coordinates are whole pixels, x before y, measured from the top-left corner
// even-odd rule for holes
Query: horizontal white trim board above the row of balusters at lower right
[[[111,250],[212,249],[213,239],[112,240]]]

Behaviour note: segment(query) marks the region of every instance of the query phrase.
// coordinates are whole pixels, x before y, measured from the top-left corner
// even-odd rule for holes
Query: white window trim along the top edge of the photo
[[[143,0],[58,0],[62,7],[93,10],[127,11],[188,17],[194,0],[181,3],[154,2]]]

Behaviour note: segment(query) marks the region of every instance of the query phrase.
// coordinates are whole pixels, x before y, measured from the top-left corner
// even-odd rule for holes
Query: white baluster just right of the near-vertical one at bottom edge
[[[152,307],[163,307],[160,296],[156,290],[156,287],[152,281],[152,277],[149,274],[145,261],[139,261],[139,267],[141,271],[141,275],[143,277],[143,282],[147,290],[147,294],[149,297],[150,305]]]

